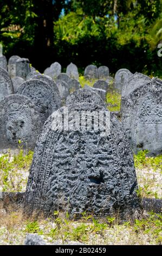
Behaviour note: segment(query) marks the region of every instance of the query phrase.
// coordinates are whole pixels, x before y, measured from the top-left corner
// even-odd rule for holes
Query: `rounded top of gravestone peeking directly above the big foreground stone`
[[[100,95],[89,89],[79,89],[71,93],[67,97],[66,105],[77,103],[95,103],[96,105],[104,106],[104,102]]]

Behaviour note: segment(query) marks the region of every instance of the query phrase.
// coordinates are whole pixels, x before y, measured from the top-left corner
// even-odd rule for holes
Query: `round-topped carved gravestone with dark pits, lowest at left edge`
[[[42,127],[34,103],[12,94],[0,102],[0,109],[0,149],[17,148],[19,140],[25,148],[34,149]]]

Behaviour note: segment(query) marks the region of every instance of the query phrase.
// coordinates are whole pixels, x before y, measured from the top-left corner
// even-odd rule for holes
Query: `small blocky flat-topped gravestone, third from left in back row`
[[[19,58],[16,60],[16,76],[26,79],[30,73],[29,59]]]

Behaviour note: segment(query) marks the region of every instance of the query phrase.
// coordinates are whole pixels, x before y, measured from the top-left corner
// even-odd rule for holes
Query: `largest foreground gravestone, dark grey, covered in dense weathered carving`
[[[86,129],[86,118],[91,115],[98,124],[101,113],[103,123],[110,115],[111,130],[105,136],[102,129]],[[61,129],[65,119],[74,126]],[[139,205],[137,189],[133,154],[119,121],[103,106],[72,104],[54,112],[38,137],[24,211],[45,216],[56,210],[72,216],[85,211],[98,216],[132,214]]]

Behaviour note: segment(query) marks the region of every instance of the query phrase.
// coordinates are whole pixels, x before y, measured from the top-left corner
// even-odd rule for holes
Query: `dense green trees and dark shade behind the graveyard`
[[[161,76],[161,0],[0,0],[4,54],[43,71],[58,61]]]

